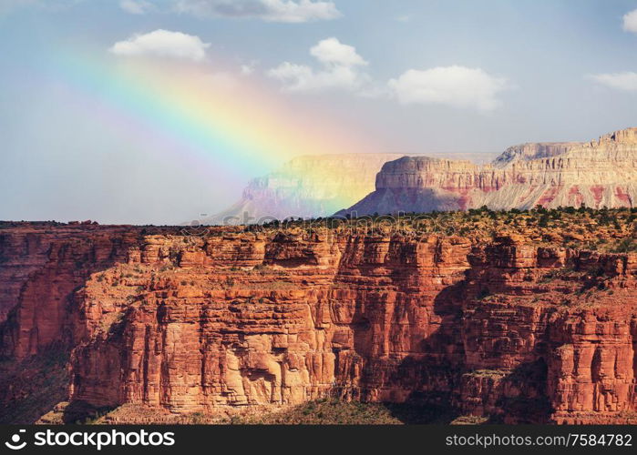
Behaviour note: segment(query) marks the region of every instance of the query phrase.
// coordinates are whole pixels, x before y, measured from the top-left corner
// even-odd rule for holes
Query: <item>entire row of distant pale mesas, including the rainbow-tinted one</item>
[[[598,140],[527,143],[488,153],[301,156],[252,179],[241,199],[200,224],[434,210],[632,207],[637,128]],[[488,163],[488,164],[483,164]],[[347,208],[348,207],[348,208]]]

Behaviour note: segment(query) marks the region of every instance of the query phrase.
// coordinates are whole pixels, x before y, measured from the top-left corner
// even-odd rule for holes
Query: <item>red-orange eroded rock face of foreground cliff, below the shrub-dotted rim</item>
[[[23,291],[3,329],[29,334],[5,336],[15,357],[67,340],[72,402],[214,414],[332,395],[510,422],[634,419],[632,254],[516,237],[93,229],[53,242],[43,267],[57,271],[23,285],[67,292],[67,305]],[[86,251],[98,253],[71,268]],[[54,318],[34,317],[49,307]]]

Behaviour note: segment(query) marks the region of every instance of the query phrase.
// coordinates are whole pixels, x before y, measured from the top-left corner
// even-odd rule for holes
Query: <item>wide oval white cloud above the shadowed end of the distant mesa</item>
[[[498,107],[501,104],[498,93],[508,88],[505,78],[466,66],[410,69],[391,79],[388,85],[403,104],[441,104],[481,111]]]

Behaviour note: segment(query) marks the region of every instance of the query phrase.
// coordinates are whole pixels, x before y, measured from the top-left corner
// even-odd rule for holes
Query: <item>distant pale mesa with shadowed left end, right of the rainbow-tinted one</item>
[[[589,143],[511,147],[486,166],[430,157],[386,163],[375,191],[340,212],[374,213],[544,207],[632,207],[637,128]]]

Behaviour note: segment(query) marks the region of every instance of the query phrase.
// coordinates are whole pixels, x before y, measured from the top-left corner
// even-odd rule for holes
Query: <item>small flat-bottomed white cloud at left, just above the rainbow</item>
[[[206,56],[209,46],[199,36],[159,29],[118,41],[109,51],[118,56],[167,56],[200,61]]]

